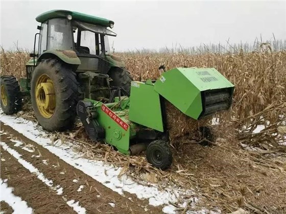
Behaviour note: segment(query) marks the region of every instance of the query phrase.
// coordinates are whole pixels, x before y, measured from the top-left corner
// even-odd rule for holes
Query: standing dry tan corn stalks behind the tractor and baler
[[[126,63],[134,80],[156,79],[158,67],[213,67],[235,85],[232,118],[243,119],[275,106],[286,100],[286,51],[260,50],[233,53],[115,53]],[[27,51],[1,51],[1,75],[25,77]],[[182,92],[184,93],[184,92]],[[186,92],[185,92],[186,93]],[[283,110],[268,112],[266,119],[276,122]]]

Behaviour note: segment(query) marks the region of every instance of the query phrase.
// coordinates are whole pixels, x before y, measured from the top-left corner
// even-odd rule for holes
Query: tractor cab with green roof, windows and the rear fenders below
[[[112,67],[125,67],[120,58],[110,53],[108,37],[116,36],[110,30],[113,21],[67,10],[48,11],[36,20],[41,23],[40,32],[35,35],[29,65],[36,66],[37,60],[55,55],[65,63],[76,65],[79,72],[107,74]]]

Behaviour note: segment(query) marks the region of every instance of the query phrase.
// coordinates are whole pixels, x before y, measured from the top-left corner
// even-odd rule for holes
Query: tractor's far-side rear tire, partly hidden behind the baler
[[[123,96],[130,95],[131,82],[133,81],[130,73],[122,68],[114,67],[108,72],[109,77],[112,78],[110,86],[121,87],[125,91],[121,92]]]

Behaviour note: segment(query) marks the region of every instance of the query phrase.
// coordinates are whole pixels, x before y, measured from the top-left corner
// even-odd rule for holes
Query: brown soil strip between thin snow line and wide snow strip
[[[41,145],[27,139],[10,126],[2,126],[8,133],[2,135],[2,141],[6,142],[12,149],[22,154],[23,158],[33,164],[47,179],[53,180],[63,188],[62,196],[68,200],[79,201],[87,213],[161,213],[161,207],[148,205],[148,201],[140,200],[136,196],[126,194],[123,197],[103,184],[94,180],[82,171],[70,166],[58,156],[43,148]],[[21,147],[14,146],[13,138],[21,140],[23,144],[33,146],[34,152],[23,150]],[[108,182],[108,181],[107,181]],[[131,199],[131,200],[130,200]],[[113,204],[115,205],[113,207]]]

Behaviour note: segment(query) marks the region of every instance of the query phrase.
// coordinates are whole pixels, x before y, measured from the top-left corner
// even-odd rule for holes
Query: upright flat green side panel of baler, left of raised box
[[[159,94],[154,91],[153,84],[133,81],[129,105],[130,121],[158,131],[164,131],[160,98]]]

